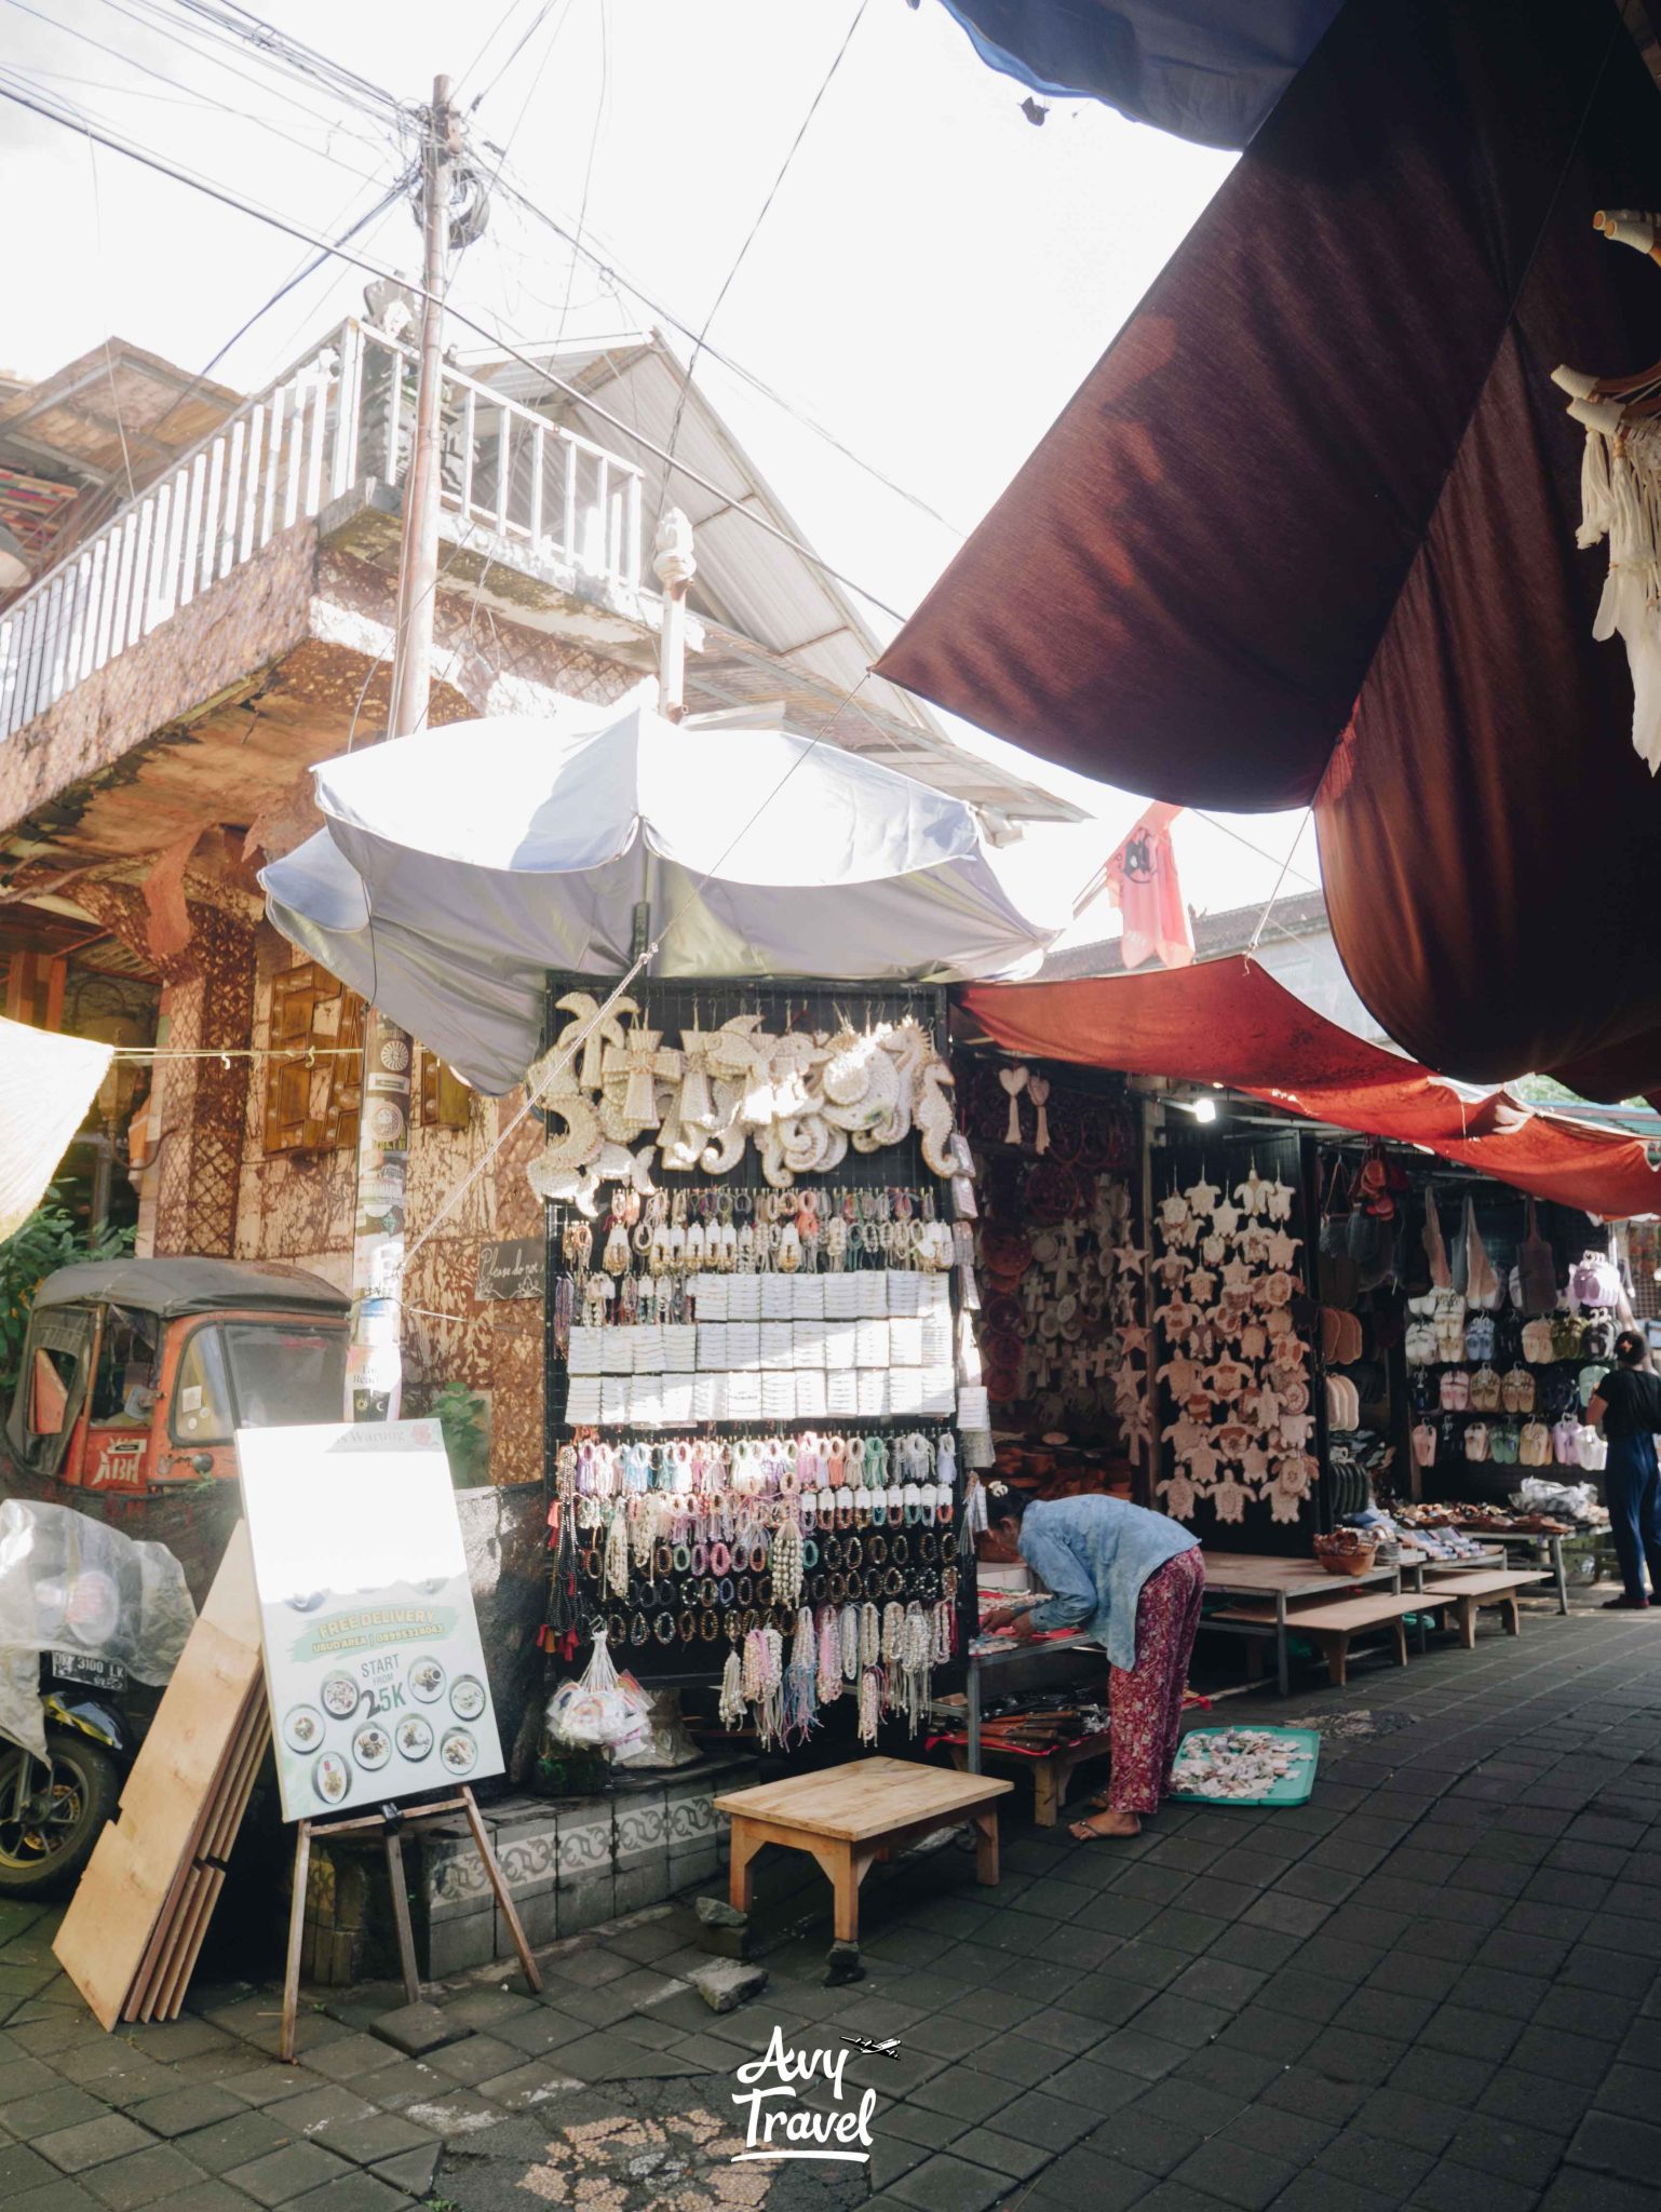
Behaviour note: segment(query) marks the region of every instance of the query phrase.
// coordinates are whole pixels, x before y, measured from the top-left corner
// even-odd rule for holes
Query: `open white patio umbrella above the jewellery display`
[[[546,969],[630,964],[648,887],[672,978],[1017,975],[1066,925],[1017,909],[964,801],[644,699],[451,723],[314,776],[327,827],[263,869],[272,922],[491,1095],[540,1051]]]

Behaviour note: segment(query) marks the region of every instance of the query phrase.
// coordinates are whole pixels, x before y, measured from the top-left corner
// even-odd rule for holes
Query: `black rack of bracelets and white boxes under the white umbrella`
[[[604,991],[551,978],[549,1044],[562,1000],[582,1013]],[[568,1197],[544,1179],[544,1641],[568,1657],[604,1621],[641,1681],[719,1677],[721,1719],[772,1745],[843,1694],[863,1741],[885,1714],[916,1732],[975,1604],[955,1431],[971,1248],[953,1221],[973,1197],[936,1048],[944,993],[652,982],[635,1000],[586,1068],[610,1079],[619,1179]],[[737,1073],[723,1031],[759,1044],[754,1068]],[[838,1121],[836,1099],[887,1097],[894,1066],[900,1106],[858,1128],[854,1099]],[[745,1082],[750,1141],[706,1144],[706,1108],[732,1121]],[[551,1124],[577,1126],[586,1102],[606,1108],[588,1088],[573,1119],[549,1097]],[[823,1172],[792,1172],[816,1110],[854,1135]]]

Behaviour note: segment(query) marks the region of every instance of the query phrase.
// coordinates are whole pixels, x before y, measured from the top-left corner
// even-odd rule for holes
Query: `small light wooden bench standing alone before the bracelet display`
[[[947,1774],[909,1759],[858,1759],[823,1774],[734,1790],[714,1809],[732,1820],[728,1898],[748,1913],[754,1902],[754,1856],[763,1843],[807,1851],[829,1876],[836,1940],[860,1940],[860,1882],[878,1858],[920,1843],[942,1827],[975,1829],[975,1878],[997,1880],[997,1798],[1015,1783],[986,1774]]]

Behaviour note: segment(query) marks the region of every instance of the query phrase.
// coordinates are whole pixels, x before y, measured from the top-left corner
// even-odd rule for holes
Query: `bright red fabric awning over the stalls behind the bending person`
[[[1225,1084],[1312,1121],[1422,1144],[1588,1214],[1661,1212],[1661,1170],[1637,1137],[1533,1113],[1504,1091],[1464,1099],[1429,1068],[1338,1029],[1243,956],[1146,975],[980,982],[960,998],[1013,1053]]]

